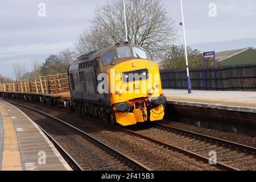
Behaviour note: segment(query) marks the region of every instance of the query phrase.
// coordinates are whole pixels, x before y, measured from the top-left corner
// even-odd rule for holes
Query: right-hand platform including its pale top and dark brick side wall
[[[164,89],[167,118],[256,136],[256,92]]]

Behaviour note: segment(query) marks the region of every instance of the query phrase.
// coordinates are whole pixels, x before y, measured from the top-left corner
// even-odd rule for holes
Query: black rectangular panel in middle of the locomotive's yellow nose
[[[148,70],[147,69],[139,69],[139,70],[135,70],[135,71],[124,72],[122,75],[123,75],[123,82],[147,80]]]

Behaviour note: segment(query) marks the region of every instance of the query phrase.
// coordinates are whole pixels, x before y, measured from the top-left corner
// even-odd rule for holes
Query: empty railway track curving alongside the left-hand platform
[[[44,113],[43,111],[36,110],[15,102],[8,102],[9,104],[24,107],[32,112],[36,112],[44,117],[50,118],[50,124],[45,123],[44,127],[48,126],[47,130],[39,125],[40,129],[55,143],[55,146],[60,150],[60,153],[68,162],[71,163],[73,169],[76,170],[138,170],[138,171],[151,171],[150,168],[139,163],[137,160],[122,154],[115,150],[113,147],[108,146],[100,140],[92,137],[88,133],[69,125],[67,122],[62,121],[52,115]],[[41,123],[41,124],[42,124]],[[50,126],[51,125],[51,126]],[[54,125],[54,126],[53,126]],[[56,129],[58,130],[56,132]],[[78,136],[77,136],[78,134]],[[53,136],[54,135],[54,136]],[[59,135],[59,136],[58,136]],[[67,139],[66,139],[66,136]],[[75,136],[75,138],[73,137]],[[57,138],[57,139],[55,139]],[[58,140],[58,141],[57,141]],[[79,154],[79,155],[77,155]],[[85,156],[82,156],[85,155]],[[88,160],[90,160],[89,163]],[[94,168],[92,168],[92,166]]]

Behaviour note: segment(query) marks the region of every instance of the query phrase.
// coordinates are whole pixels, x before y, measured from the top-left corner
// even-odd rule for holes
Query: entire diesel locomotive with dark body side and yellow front
[[[68,68],[67,109],[122,126],[160,121],[166,97],[150,52],[124,43],[80,56]]]

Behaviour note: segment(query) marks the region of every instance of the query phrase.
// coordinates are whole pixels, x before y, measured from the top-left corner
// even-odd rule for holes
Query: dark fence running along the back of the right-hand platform
[[[186,70],[162,70],[164,89],[187,89]],[[216,90],[214,69],[190,69],[191,86],[195,90]],[[217,68],[217,90],[256,91],[256,64]]]

